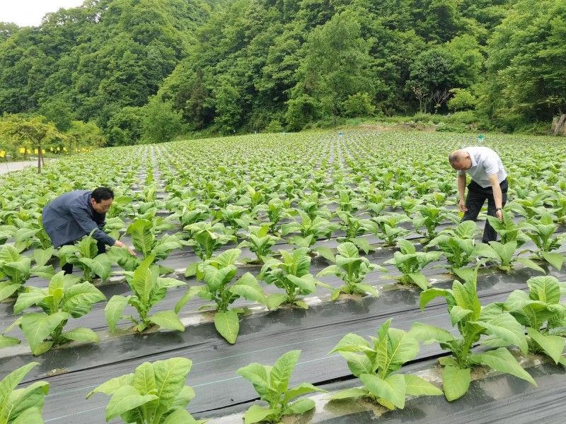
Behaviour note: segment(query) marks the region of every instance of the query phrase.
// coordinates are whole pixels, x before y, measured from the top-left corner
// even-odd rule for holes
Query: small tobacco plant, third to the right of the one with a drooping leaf
[[[417,252],[415,246],[408,240],[398,240],[400,252],[395,252],[393,258],[383,262],[391,264],[400,272],[401,276],[394,277],[401,284],[416,284],[422,290],[430,285],[427,277],[420,271],[433,261],[437,261],[441,252]]]

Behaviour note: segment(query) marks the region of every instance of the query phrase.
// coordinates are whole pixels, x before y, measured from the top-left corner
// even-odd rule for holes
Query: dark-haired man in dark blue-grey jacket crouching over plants
[[[112,206],[114,192],[106,187],[93,190],[76,190],[62,194],[43,208],[43,227],[54,247],[73,245],[84,235],[93,230],[97,240],[98,253],[106,252],[106,245],[126,247],[130,254],[133,249],[120,240],[114,240],[103,231],[106,212]],[[62,267],[65,273],[73,272],[72,264]]]

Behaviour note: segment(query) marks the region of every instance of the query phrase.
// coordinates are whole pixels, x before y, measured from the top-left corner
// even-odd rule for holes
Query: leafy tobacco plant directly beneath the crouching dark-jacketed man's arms
[[[110,277],[110,267],[112,266],[108,256],[98,254],[96,247],[96,239],[92,233],[83,237],[74,245],[62,246],[57,252],[59,264],[73,264],[83,270],[83,280],[92,283],[96,276],[102,281],[106,281]]]

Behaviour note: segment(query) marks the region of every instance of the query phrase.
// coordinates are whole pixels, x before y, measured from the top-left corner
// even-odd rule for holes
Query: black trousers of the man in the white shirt
[[[509,188],[509,184],[507,184],[507,179],[504,179],[501,183],[499,183],[499,187],[501,187],[501,194],[502,194],[502,206],[505,206],[507,203],[507,189]],[[487,215],[489,216],[496,216],[495,215],[495,200],[493,199],[493,189],[492,187],[481,187],[480,184],[477,182],[470,182],[468,184],[468,196],[466,197],[466,208],[468,211],[464,213],[462,218],[462,222],[465,220],[473,220],[475,221],[478,219],[478,214],[485,203],[485,199],[487,199]],[[482,242],[495,242],[497,240],[497,232],[492,228],[490,222],[488,220],[485,221],[485,229],[483,230],[483,238]]]

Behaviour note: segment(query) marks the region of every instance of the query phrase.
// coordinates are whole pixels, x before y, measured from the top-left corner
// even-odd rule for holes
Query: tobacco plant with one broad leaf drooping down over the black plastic
[[[202,278],[206,285],[191,287],[175,305],[175,312],[179,312],[185,303],[195,295],[205,300],[214,300],[214,305],[212,305],[216,311],[214,312],[214,326],[216,331],[229,343],[236,343],[240,331],[238,312],[245,312],[241,308],[229,310],[229,306],[238,298],[253,300],[262,305],[265,305],[266,302],[265,293],[260,284],[249,272],[241,276],[236,283],[231,284],[238,272],[234,264],[241,252],[240,249],[229,249],[219,254],[218,257],[197,264],[196,268],[193,267],[190,271],[194,270],[197,278]]]

